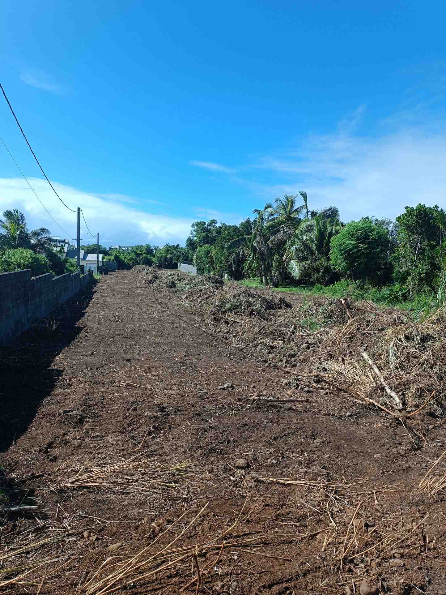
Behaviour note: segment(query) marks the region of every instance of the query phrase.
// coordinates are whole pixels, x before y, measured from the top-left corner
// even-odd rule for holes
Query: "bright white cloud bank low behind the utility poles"
[[[62,205],[46,180],[29,178],[29,181],[37,196],[67,233],[60,230],[51,220],[23,179],[0,179],[0,212],[18,208],[26,215],[30,228],[48,227],[54,235],[75,238],[76,213],[68,211]],[[99,242],[104,238],[104,241],[111,239],[109,243],[113,245],[139,243],[163,245],[167,242],[179,242],[184,245],[194,221],[191,218],[147,213],[142,209],[122,204],[119,200],[83,192],[63,184],[53,182],[53,186],[68,206],[73,209],[77,206],[82,208],[92,234],[95,235],[99,231]],[[122,195],[119,196],[122,200]],[[131,197],[125,198],[131,199]],[[95,237],[89,236],[81,217],[82,242],[92,242]],[[105,243],[108,245],[108,242]]]

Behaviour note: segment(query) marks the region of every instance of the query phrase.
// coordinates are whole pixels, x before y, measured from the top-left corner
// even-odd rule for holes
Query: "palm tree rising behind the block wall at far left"
[[[23,212],[7,209],[0,219],[0,248],[29,248],[43,252],[51,245],[50,232],[46,227],[29,230]]]

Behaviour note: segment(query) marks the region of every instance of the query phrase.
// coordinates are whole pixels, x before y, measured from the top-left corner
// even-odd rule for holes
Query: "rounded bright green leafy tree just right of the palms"
[[[354,281],[382,276],[389,235],[384,226],[365,218],[351,221],[331,240],[331,266]]]

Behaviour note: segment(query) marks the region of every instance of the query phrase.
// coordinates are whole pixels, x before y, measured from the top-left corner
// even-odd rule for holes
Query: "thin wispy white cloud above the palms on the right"
[[[293,151],[266,155],[230,180],[259,203],[306,190],[310,205],[337,205],[344,221],[363,215],[395,218],[419,202],[446,206],[446,117],[416,105],[380,120],[366,136],[365,107],[331,134],[312,135]]]

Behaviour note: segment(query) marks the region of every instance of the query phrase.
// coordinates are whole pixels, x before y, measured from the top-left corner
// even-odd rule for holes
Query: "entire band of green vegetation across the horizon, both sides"
[[[118,268],[177,268],[178,262],[193,262],[199,274],[227,271],[235,280],[256,283],[258,278],[263,285],[348,294],[386,305],[431,299],[434,289],[446,283],[446,213],[437,206],[407,206],[396,221],[364,217],[343,224],[335,206],[315,209],[299,192],[266,203],[253,215],[238,225],[196,221],[184,247],[99,246],[99,252]],[[51,270],[55,275],[76,270],[75,261],[51,247],[48,235],[45,228],[29,231],[16,209],[5,211],[1,270],[27,267],[34,274]],[[81,248],[96,253],[95,244]]]

